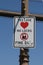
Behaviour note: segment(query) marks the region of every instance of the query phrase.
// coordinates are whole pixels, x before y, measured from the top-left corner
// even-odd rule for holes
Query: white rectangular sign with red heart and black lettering
[[[14,47],[35,46],[35,17],[15,17]]]

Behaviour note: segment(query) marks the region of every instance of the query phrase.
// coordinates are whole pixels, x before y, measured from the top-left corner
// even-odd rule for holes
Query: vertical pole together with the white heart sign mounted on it
[[[21,0],[21,16],[14,19],[14,47],[20,48],[20,65],[29,65],[29,48],[35,46],[35,17],[29,17],[28,3]]]

